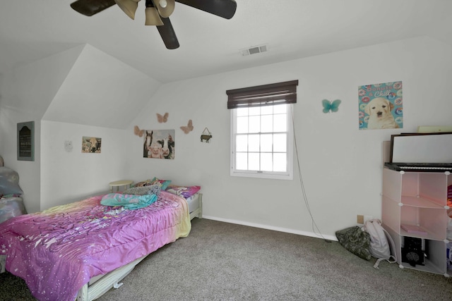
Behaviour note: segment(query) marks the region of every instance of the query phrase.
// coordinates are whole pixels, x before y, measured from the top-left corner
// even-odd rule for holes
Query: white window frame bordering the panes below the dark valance
[[[286,171],[249,171],[238,170],[236,168],[236,136],[237,136],[237,109],[231,109],[231,141],[230,141],[230,176],[249,177],[249,178],[270,178],[278,180],[293,179],[293,126],[292,126],[292,104],[284,104],[287,106],[287,139],[286,139]]]

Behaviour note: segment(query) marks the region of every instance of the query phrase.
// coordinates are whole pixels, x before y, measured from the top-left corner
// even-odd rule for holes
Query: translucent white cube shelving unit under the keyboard
[[[447,189],[452,184],[451,173],[404,172],[383,168],[381,220],[396,245],[400,268],[417,269],[448,277],[446,238]],[[417,228],[405,231],[402,226]],[[408,228],[405,227],[405,228]],[[422,239],[427,254],[424,265],[403,261],[405,239]],[[452,274],[452,273],[451,273]]]

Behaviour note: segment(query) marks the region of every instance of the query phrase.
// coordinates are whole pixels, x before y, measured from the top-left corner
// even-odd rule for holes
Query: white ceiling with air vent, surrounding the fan
[[[0,73],[83,44],[165,83],[422,35],[452,40],[450,0],[237,0],[231,20],[176,3],[174,50],[143,25],[145,1],[135,20],[116,5],[86,17],[73,1],[1,1]],[[261,44],[263,54],[239,53]]]

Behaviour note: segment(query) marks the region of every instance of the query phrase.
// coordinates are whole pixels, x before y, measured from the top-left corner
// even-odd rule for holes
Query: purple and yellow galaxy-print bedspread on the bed
[[[102,195],[0,223],[6,269],[39,300],[75,300],[90,278],[129,264],[191,230],[185,199],[162,191],[135,210],[106,207]]]

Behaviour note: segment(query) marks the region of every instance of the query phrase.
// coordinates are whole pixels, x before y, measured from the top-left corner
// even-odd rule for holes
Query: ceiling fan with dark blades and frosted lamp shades
[[[78,13],[93,16],[117,4],[127,16],[134,19],[140,0],[77,0],[71,4]],[[167,49],[177,49],[176,33],[169,21],[174,11],[174,1],[212,13],[215,16],[230,19],[237,8],[235,0],[145,0],[145,25],[156,25]]]

